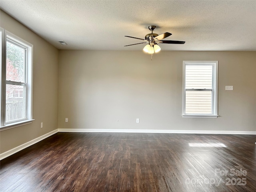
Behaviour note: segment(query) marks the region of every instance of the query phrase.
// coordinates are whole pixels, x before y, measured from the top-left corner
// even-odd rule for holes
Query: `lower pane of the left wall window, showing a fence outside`
[[[24,86],[6,84],[6,122],[25,118]]]

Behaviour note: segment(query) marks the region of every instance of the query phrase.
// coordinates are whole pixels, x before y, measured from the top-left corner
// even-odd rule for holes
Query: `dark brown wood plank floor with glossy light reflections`
[[[0,162],[0,191],[255,192],[255,142],[255,135],[57,133]]]

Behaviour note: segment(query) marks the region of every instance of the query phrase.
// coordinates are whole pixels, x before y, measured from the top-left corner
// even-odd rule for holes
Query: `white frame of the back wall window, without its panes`
[[[211,89],[186,89],[186,66],[188,65],[210,65],[212,66],[212,88]],[[182,117],[188,118],[217,118],[218,117],[218,61],[183,61],[182,78]],[[186,114],[186,90],[212,91],[212,113],[211,114]]]

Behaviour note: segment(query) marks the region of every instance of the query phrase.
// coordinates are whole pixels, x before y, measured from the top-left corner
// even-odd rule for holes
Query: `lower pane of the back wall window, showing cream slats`
[[[211,114],[212,91],[186,91],[186,114]]]

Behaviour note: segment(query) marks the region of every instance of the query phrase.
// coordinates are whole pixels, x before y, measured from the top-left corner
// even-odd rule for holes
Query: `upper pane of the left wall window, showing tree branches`
[[[6,42],[6,80],[24,82],[25,49]]]

